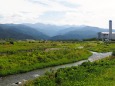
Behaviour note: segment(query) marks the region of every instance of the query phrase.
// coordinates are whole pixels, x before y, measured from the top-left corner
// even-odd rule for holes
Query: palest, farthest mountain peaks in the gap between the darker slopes
[[[70,27],[69,25],[57,26],[57,25],[42,24],[42,23],[36,23],[36,24],[26,23],[24,25],[34,28],[50,37],[56,36],[58,35],[58,32],[60,30]]]

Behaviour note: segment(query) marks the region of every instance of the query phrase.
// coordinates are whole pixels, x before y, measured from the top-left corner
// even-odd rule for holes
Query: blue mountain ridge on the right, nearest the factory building
[[[89,39],[89,38],[97,38],[98,32],[107,32],[107,29],[102,29],[98,27],[70,27],[66,28],[59,32],[59,35],[54,36],[51,40],[67,40],[67,39]]]

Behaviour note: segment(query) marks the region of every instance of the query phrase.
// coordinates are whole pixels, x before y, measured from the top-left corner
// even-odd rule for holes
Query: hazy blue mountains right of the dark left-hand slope
[[[67,39],[85,39],[97,37],[98,32],[107,32],[107,29],[91,27],[91,26],[75,26],[75,25],[50,25],[50,24],[25,24],[48,36],[51,40],[67,40]]]

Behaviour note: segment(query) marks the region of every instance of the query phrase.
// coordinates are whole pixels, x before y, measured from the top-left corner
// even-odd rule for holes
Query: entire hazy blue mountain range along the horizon
[[[96,38],[98,32],[107,32],[108,29],[91,26],[50,24],[0,24],[0,39],[44,39],[44,40],[71,40]]]

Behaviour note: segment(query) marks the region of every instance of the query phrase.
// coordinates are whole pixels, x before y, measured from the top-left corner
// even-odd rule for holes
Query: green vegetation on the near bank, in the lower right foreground
[[[115,86],[115,58],[47,72],[24,86]]]

